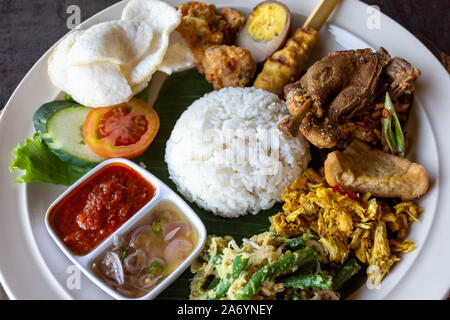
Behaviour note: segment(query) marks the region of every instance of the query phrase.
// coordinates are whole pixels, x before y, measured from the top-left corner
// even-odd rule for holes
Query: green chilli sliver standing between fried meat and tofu
[[[392,104],[389,93],[386,92],[386,99],[384,101],[384,108],[389,112],[388,118],[383,118],[383,135],[389,150],[392,154],[405,156],[405,138],[402,131],[402,126],[398,120],[394,105]],[[392,129],[392,120],[394,121],[394,130]]]

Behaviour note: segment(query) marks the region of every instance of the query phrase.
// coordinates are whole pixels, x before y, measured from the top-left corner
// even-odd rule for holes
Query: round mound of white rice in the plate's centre
[[[303,137],[277,129],[284,101],[255,88],[225,88],[195,101],[166,145],[170,179],[191,202],[224,217],[271,208],[310,161]]]

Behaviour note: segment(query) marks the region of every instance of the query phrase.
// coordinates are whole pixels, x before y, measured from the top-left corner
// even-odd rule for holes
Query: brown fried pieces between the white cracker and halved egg
[[[233,44],[245,17],[231,8],[217,13],[215,5],[197,1],[183,3],[179,10],[182,18],[176,30],[186,41],[196,59],[195,66],[203,74],[205,50],[215,45]]]

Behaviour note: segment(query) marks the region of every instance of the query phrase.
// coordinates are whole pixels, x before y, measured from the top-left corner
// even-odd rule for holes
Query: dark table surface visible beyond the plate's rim
[[[450,1],[363,0],[377,5],[450,65]],[[0,109],[28,70],[67,31],[67,8],[78,5],[82,21],[117,0],[0,0]],[[0,299],[6,294],[0,286]]]

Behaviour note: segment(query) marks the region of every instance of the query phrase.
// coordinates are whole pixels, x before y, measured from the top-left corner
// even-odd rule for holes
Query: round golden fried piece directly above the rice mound
[[[245,87],[255,75],[256,63],[247,49],[220,45],[206,49],[203,68],[206,80],[219,90]]]

